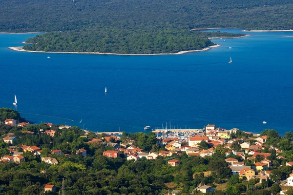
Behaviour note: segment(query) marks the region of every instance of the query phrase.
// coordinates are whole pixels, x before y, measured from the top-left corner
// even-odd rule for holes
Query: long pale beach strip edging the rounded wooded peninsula
[[[201,52],[201,51],[207,51],[214,47],[219,47],[221,45],[216,44],[212,45],[200,50],[190,50],[190,51],[181,51],[173,54],[115,54],[115,53],[100,53],[100,52],[44,52],[44,51],[28,51],[22,49],[22,47],[8,47],[9,49],[12,49],[14,51],[21,51],[21,52],[34,52],[34,53],[60,53],[60,54],[100,54],[100,55],[127,55],[127,56],[156,56],[156,55],[179,55],[179,54],[185,54],[188,52]]]

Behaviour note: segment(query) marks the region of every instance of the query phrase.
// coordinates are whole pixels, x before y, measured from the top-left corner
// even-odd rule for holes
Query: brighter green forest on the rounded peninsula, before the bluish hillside
[[[235,37],[243,34],[204,33],[184,29],[128,31],[97,28],[93,32],[75,31],[45,33],[26,42],[23,49],[33,51],[100,52],[119,54],[157,54],[198,50],[214,45],[207,37]]]

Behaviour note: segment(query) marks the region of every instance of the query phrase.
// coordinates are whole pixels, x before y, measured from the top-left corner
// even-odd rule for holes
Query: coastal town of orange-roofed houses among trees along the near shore
[[[2,132],[5,132],[2,134],[3,143],[1,144],[1,154],[5,155],[0,156],[0,167],[5,166],[6,163],[23,166],[34,159],[41,164],[44,163],[45,166],[42,165],[40,174],[46,175],[48,172],[52,172],[52,169],[57,169],[58,166],[73,166],[73,163],[78,162],[77,158],[84,161],[87,157],[95,155],[97,152],[95,150],[103,149],[101,156],[96,158],[101,158],[103,155],[114,161],[120,159],[116,162],[129,161],[134,164],[142,163],[144,160],[154,163],[163,160],[164,166],[170,167],[165,167],[165,169],[173,167],[172,169],[175,170],[195,159],[209,161],[208,165],[203,163],[200,166],[190,167],[195,170],[191,175],[192,180],[203,174],[203,178],[208,178],[207,181],[199,182],[188,192],[181,184],[183,181],[179,180],[175,185],[175,176],[175,179],[170,180],[173,182],[166,183],[166,188],[162,191],[165,195],[220,194],[220,192],[227,195],[249,194],[255,190],[264,194],[289,195],[293,193],[293,154],[291,152],[293,135],[291,132],[281,138],[274,130],[252,134],[237,128],[227,130],[214,124],[208,124],[197,132],[189,132],[187,139],[182,139],[178,134],[165,134],[164,137],[151,132],[145,140],[140,140],[140,136],[145,137],[147,134],[137,133],[137,136],[132,136],[131,133],[128,135],[125,132],[120,135],[97,134],[68,125],[18,123],[13,118],[3,120],[0,128]],[[56,137],[62,140],[63,134],[67,133],[66,137],[70,137],[69,132],[72,130],[79,134],[76,139],[78,144],[74,149],[69,147],[70,144],[75,144],[73,139],[70,142],[70,138],[59,144],[59,147],[50,147],[50,144],[54,145]],[[45,138],[47,143],[29,145],[28,143],[32,143],[32,141],[28,141],[28,139],[36,135]],[[167,135],[175,136],[166,137]],[[153,143],[146,147],[145,144],[150,139]],[[140,143],[141,141],[142,143]],[[93,147],[96,149],[93,150]],[[223,161],[220,159],[222,157]],[[227,174],[227,177],[225,174],[219,176],[223,178],[221,181],[216,180],[216,175],[223,173],[218,173],[218,170],[213,170],[212,167],[207,168],[211,165],[213,158],[216,160],[215,162],[221,164],[214,165],[219,166],[216,169],[223,169],[222,172]],[[78,163],[74,166],[82,165]],[[82,168],[84,171],[86,169],[86,167]],[[174,175],[176,174],[174,173]],[[3,178],[0,177],[0,180],[2,181],[1,189],[5,189]],[[43,192],[64,192],[64,183],[50,179],[47,181],[48,183],[40,185]],[[6,188],[8,189],[8,186]]]

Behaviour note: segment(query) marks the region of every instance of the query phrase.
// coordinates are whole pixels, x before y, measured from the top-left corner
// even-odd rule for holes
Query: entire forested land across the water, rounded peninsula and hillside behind
[[[293,27],[291,0],[2,0],[1,5],[0,32],[50,32],[27,40],[34,44],[23,49],[32,51],[176,53],[212,45],[207,34],[191,29]]]

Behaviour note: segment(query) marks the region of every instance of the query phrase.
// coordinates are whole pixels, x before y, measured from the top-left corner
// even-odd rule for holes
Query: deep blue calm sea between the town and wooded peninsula
[[[15,108],[16,94],[16,109],[29,120],[95,132],[139,132],[169,121],[292,131],[293,38],[282,35],[293,32],[248,34],[213,39],[222,46],[206,52],[165,56],[17,52],[7,47],[33,35],[0,34],[0,107]]]

